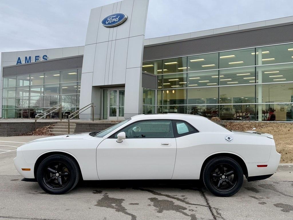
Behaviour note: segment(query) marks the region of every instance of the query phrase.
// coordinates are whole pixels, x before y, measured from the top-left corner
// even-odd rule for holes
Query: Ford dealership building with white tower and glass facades
[[[293,16],[145,39],[148,3],[91,9],[85,45],[1,53],[1,117],[293,121]]]

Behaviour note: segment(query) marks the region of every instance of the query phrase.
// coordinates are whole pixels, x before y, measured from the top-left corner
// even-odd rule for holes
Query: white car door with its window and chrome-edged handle
[[[120,132],[126,139],[117,143]],[[137,121],[98,145],[98,176],[100,180],[171,179],[175,157],[171,120]]]

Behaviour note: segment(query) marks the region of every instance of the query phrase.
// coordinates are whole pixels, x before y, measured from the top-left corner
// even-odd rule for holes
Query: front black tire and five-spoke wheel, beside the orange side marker
[[[50,194],[64,194],[73,189],[79,181],[77,163],[69,156],[55,154],[44,159],[37,170],[40,187]]]

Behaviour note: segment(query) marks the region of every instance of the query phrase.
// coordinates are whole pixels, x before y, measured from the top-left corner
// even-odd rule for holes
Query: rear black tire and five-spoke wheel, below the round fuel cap
[[[243,171],[236,160],[229,157],[217,157],[209,160],[205,165],[202,180],[212,194],[228,197],[241,188]]]

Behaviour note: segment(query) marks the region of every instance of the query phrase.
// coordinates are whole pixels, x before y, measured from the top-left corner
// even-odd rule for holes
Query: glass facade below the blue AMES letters
[[[34,118],[57,104],[67,118],[79,107],[80,81],[81,69],[4,77],[2,118]]]

